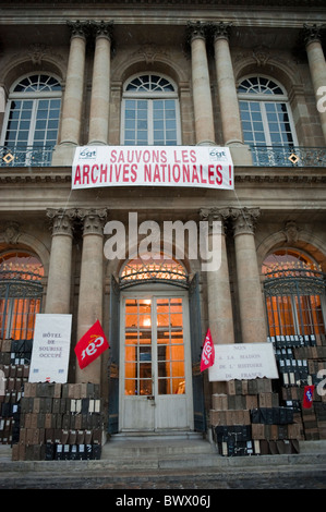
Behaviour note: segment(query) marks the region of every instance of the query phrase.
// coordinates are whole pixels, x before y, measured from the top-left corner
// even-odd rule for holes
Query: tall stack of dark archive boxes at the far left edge
[[[12,340],[0,340],[0,444],[15,442],[20,430],[20,402],[29,365],[17,357]]]

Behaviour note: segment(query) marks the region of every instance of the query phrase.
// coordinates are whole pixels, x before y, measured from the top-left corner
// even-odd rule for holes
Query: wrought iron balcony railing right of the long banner
[[[251,146],[258,167],[326,167],[326,147]]]

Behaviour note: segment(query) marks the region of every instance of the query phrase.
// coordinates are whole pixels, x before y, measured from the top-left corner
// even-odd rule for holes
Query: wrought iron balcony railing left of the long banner
[[[0,167],[49,167],[53,146],[0,146]]]

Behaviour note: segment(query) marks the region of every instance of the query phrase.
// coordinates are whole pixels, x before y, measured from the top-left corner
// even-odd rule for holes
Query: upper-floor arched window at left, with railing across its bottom
[[[49,164],[58,138],[60,107],[61,85],[56,77],[33,74],[21,78],[9,95],[1,163]]]

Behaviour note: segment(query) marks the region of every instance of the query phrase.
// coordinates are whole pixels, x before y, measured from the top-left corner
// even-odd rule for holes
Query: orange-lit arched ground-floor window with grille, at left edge
[[[43,276],[41,263],[27,251],[0,255],[0,338],[33,340],[35,315],[41,307]]]

